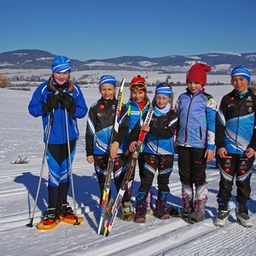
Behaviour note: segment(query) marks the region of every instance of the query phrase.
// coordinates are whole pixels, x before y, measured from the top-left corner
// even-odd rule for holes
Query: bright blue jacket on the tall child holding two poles
[[[68,84],[67,84],[68,85]],[[88,108],[84,101],[84,96],[79,88],[78,84],[73,84],[74,89],[68,92],[69,95],[73,96],[76,112],[73,117],[67,112],[67,126],[69,140],[79,138],[79,127],[77,118],[82,119],[86,115]],[[43,120],[44,128],[44,143],[46,143],[47,131],[49,129],[50,114],[44,113],[43,105],[47,102],[49,94],[55,94],[55,90],[49,88],[48,82],[40,84],[32,95],[32,100],[28,105],[28,111],[32,116],[41,116]],[[53,125],[49,134],[49,144],[62,144],[67,143],[67,129],[66,129],[66,118],[65,110],[61,108],[61,102],[59,102],[59,108],[56,108],[53,114]]]

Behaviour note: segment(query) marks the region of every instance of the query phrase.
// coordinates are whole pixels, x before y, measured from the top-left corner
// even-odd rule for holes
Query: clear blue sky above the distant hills
[[[87,61],[256,52],[255,0],[3,0],[0,52]]]

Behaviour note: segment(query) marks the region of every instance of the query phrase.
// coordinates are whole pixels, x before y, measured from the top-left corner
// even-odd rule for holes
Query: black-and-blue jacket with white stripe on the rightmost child
[[[228,154],[245,154],[247,148],[256,151],[256,96],[252,90],[240,96],[236,90],[225,95],[218,109],[217,148]]]

